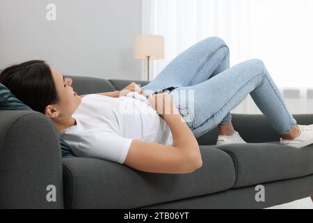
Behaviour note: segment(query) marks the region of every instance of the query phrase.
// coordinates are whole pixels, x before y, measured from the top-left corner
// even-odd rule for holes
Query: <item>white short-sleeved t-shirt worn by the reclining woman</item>
[[[132,139],[172,145],[166,121],[136,98],[86,95],[72,116],[77,125],[60,134],[77,157],[123,164]]]

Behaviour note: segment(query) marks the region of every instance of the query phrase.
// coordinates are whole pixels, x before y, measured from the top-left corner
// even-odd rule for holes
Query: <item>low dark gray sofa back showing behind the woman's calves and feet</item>
[[[294,114],[300,125],[313,124],[313,114]],[[232,114],[232,125],[241,137],[248,143],[279,141],[280,134],[274,130],[264,114]],[[199,137],[200,145],[215,145],[218,137],[218,128]]]

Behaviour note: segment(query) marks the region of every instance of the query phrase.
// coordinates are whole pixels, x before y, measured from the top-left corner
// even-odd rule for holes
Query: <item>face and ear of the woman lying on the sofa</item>
[[[47,105],[45,114],[51,118],[69,119],[81,104],[81,97],[73,91],[72,79],[64,78],[60,72],[50,68],[59,102],[56,105]],[[60,115],[60,117],[58,117]]]

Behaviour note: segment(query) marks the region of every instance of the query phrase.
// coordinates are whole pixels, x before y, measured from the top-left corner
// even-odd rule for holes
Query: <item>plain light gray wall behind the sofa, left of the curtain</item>
[[[48,21],[48,3],[56,21]],[[0,69],[44,59],[63,75],[141,79],[142,0],[0,0]]]

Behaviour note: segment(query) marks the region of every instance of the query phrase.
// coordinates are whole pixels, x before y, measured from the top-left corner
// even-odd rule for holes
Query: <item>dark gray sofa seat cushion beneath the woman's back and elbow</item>
[[[200,146],[203,164],[191,174],[152,174],[93,158],[63,159],[66,208],[139,208],[227,190],[234,185],[232,158]]]

